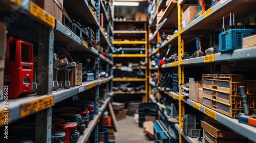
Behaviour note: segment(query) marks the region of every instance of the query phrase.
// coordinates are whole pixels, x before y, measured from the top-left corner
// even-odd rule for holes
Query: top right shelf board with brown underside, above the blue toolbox
[[[229,14],[234,13],[235,22],[238,19],[244,19],[255,13],[253,6],[256,1],[250,0],[229,0],[220,1],[215,6],[209,8],[206,12],[200,15],[195,20],[191,21],[181,31],[181,34],[186,34],[190,30],[210,30],[221,29],[223,25],[223,16],[225,16],[225,27],[229,24]],[[236,8],[236,9],[234,9]]]

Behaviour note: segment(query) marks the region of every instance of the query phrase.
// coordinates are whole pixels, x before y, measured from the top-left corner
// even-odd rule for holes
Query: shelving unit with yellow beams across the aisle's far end
[[[140,60],[147,61],[147,31],[146,31],[146,21],[135,21],[135,20],[126,20],[126,21],[114,21],[115,29],[114,29],[114,40],[113,45],[118,47],[145,47],[145,54],[132,54],[132,53],[125,53],[124,54],[113,54],[114,61],[118,61],[121,63],[125,63],[127,59],[133,58],[133,62],[137,63]],[[129,28],[136,27],[137,30],[132,30]],[[129,39],[134,38],[134,39]],[[117,40],[118,39],[118,40]],[[128,39],[128,40],[124,40]],[[138,40],[137,40],[138,39]],[[120,52],[119,52],[120,53]],[[139,53],[139,52],[138,52]],[[124,59],[124,60],[119,60]],[[138,59],[138,61],[137,61]],[[126,64],[126,63],[125,63]],[[119,74],[119,72],[125,73],[125,71],[121,71],[121,67],[113,67],[114,72]],[[142,69],[147,75],[147,67],[141,66],[133,67],[134,70]],[[120,70],[120,71],[119,71]],[[136,74],[136,73],[134,73]],[[145,83],[145,91],[147,91],[147,76],[145,78],[113,78],[113,83],[122,83],[122,82],[144,82]],[[145,101],[147,101],[147,92],[145,91],[132,91],[132,92],[113,92],[114,94],[142,94],[145,95]]]

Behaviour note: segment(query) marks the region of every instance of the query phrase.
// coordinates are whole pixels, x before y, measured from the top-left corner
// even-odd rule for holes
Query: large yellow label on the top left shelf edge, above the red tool
[[[44,21],[51,27],[55,27],[55,19],[52,15],[46,14],[45,10],[30,1],[30,14],[34,15],[38,19]]]

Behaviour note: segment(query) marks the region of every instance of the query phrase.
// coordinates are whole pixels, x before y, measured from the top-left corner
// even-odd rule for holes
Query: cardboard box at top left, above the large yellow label
[[[34,3],[62,22],[63,0],[37,0]]]

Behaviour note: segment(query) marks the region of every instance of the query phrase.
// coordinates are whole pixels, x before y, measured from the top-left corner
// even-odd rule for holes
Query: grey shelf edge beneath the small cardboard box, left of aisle
[[[110,81],[111,79],[113,79],[113,76],[104,79],[105,82]],[[67,98],[70,98],[72,96],[74,96],[75,94],[78,94],[82,91],[88,90],[95,87],[96,85],[100,84],[101,80],[94,80],[94,81],[90,81],[90,82],[83,82],[81,85],[79,86],[75,86],[75,87],[71,87],[69,89],[58,89],[56,91],[53,91],[53,95],[54,95],[54,103],[58,103],[62,100],[65,100]]]

